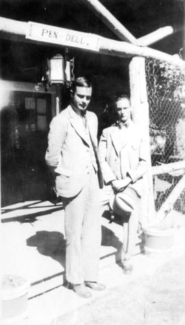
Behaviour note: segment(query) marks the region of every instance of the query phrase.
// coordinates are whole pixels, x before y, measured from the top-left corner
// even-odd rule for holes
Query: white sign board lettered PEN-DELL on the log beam
[[[66,47],[99,51],[100,37],[95,34],[76,32],[72,29],[33,23],[32,21],[27,23],[26,38],[45,43],[64,45]]]

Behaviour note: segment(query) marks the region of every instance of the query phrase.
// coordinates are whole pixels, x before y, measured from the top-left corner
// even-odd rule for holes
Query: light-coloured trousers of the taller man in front
[[[64,200],[66,280],[73,284],[97,281],[101,245],[101,210],[97,173],[90,169],[82,191]]]

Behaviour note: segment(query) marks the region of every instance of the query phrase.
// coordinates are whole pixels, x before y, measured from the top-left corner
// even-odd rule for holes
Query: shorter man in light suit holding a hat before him
[[[118,120],[103,130],[99,158],[106,186],[101,203],[110,204],[123,217],[123,272],[132,272],[130,261],[136,245],[142,176],[147,170],[147,149],[143,132],[131,120],[130,99],[121,95],[115,101]]]

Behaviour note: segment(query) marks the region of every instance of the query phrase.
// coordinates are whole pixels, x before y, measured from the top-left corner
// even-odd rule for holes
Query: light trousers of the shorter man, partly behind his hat
[[[110,203],[110,200],[112,201],[112,197],[113,200],[115,200],[116,195],[114,195],[111,185],[104,186],[103,189],[99,191],[101,200],[101,212],[103,213],[103,210],[105,210],[105,206]],[[126,189],[125,191],[132,196],[132,212],[125,212],[125,210],[123,209],[125,202],[120,202],[121,204],[119,206],[116,204],[115,201],[113,204],[114,213],[123,217],[123,245],[121,248],[121,261],[124,261],[125,259],[130,259],[134,254],[138,230],[138,219],[140,215],[140,197],[138,197],[136,192],[132,189],[129,189],[128,191]]]

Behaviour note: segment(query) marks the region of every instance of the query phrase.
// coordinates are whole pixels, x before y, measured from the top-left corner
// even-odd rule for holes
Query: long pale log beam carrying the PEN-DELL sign
[[[24,23],[0,17],[0,37],[3,35],[4,37],[8,36],[10,38],[10,34],[12,35],[12,40],[14,36],[16,40],[17,36],[21,36],[24,41],[32,43],[72,47],[88,52],[119,56],[121,58],[142,56],[144,58],[154,58],[185,67],[184,60],[157,51],[156,49],[150,49],[149,47],[138,47],[127,42],[111,40],[95,34],[77,32],[71,29],[40,23]]]

